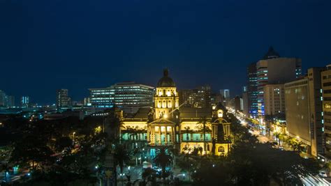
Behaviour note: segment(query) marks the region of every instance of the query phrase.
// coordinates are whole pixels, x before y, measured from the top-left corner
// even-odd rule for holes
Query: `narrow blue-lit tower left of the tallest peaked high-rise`
[[[247,67],[247,116],[258,116],[258,77],[256,77],[256,63]]]

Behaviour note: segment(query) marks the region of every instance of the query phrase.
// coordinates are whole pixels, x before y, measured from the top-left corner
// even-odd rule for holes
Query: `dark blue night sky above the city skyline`
[[[155,85],[240,93],[246,67],[270,45],[304,70],[331,63],[331,1],[0,0],[0,89],[55,101],[87,88]]]

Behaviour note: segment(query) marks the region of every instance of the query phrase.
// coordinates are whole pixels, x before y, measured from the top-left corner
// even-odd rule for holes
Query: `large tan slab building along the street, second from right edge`
[[[315,157],[323,154],[321,70],[309,68],[307,76],[284,84],[288,135]]]

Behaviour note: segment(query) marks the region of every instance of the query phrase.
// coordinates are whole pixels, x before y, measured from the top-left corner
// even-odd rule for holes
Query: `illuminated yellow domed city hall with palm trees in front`
[[[140,108],[131,118],[124,118],[120,135],[133,146],[146,146],[151,156],[156,148],[176,148],[181,153],[199,150],[200,155],[226,155],[231,146],[230,123],[226,108],[180,107],[175,82],[163,71],[154,93],[154,105]],[[205,136],[204,136],[205,134]]]

